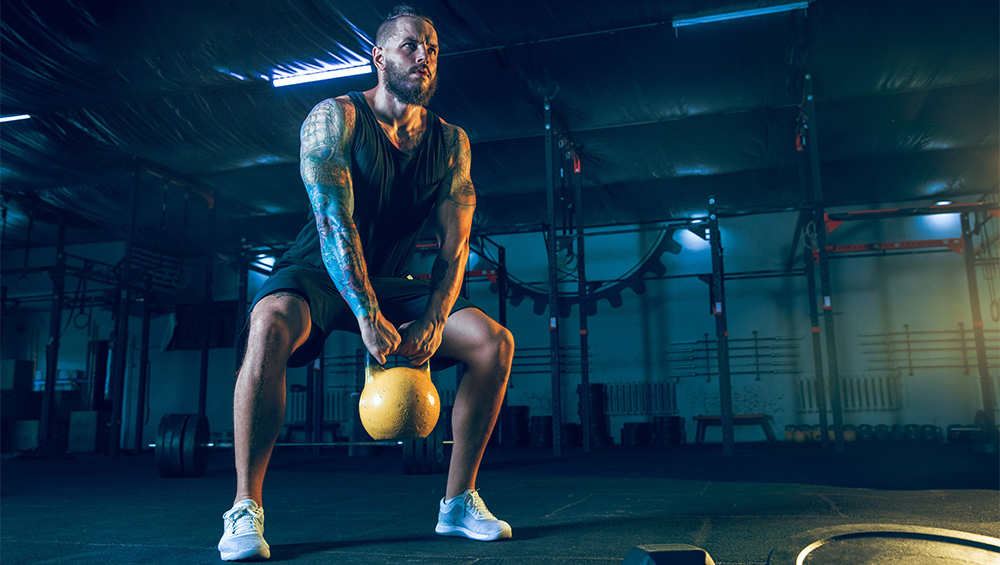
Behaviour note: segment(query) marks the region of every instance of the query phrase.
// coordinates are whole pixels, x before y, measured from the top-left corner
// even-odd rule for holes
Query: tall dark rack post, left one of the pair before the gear
[[[549,362],[552,374],[552,455],[562,455],[562,382],[559,367],[559,278],[556,269],[556,178],[552,99],[545,98],[545,195],[549,257]]]

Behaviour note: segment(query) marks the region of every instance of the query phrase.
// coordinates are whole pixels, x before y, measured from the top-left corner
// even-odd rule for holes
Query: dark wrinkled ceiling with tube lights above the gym
[[[307,218],[298,128],[374,75],[274,88],[261,75],[357,62],[389,1],[4,0],[3,245],[122,240],[204,253],[278,245]],[[542,106],[582,158],[589,225],[796,206],[804,76],[823,202],[975,200],[998,187],[995,0],[415,2],[442,56],[432,108],[468,132],[479,233],[545,221]],[[780,3],[777,0],[773,3]],[[362,30],[363,32],[359,32]],[[233,74],[248,77],[235,78]],[[30,216],[30,219],[29,219]]]

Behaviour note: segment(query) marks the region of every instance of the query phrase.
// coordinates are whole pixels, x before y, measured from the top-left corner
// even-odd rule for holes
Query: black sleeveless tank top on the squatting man
[[[351,141],[354,225],[361,237],[368,276],[396,277],[413,254],[424,224],[446,190],[447,148],[441,120],[427,111],[427,130],[412,156],[389,141],[364,94],[348,94],[357,119]],[[299,232],[295,244],[275,264],[326,270],[315,216]]]

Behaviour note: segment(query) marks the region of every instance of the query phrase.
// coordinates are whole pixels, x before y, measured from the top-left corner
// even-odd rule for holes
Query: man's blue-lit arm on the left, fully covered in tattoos
[[[399,345],[399,334],[382,316],[354,225],[350,140],[355,110],[349,98],[320,102],[299,132],[300,172],[316,215],[323,264],[358,319],[365,347],[379,363]]]

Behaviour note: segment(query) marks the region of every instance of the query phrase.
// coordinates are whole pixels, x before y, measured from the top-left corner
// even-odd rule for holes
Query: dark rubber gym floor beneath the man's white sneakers
[[[163,479],[152,455],[7,458],[3,563],[217,563],[233,496],[232,453],[200,478]],[[480,493],[514,538],[434,534],[444,475],[369,457],[279,448],[265,485],[273,562],[621,563],[635,545],[684,543],[719,564],[764,564],[819,527],[887,523],[1000,537],[997,456],[962,444],[719,444],[567,450],[491,448]]]

